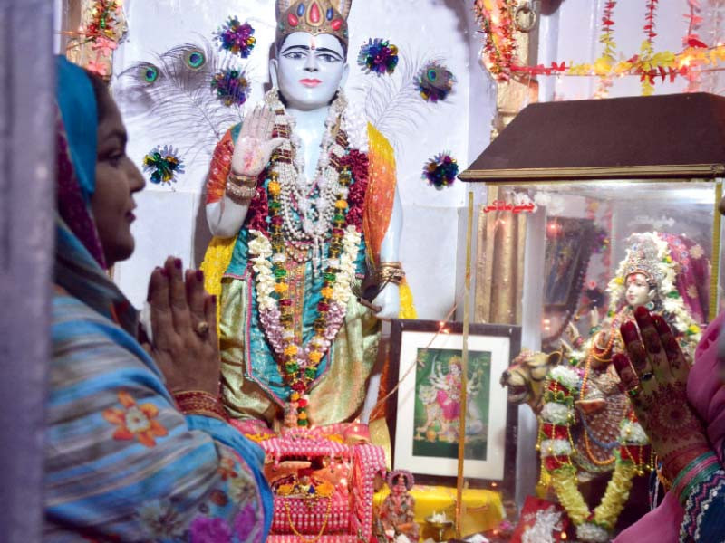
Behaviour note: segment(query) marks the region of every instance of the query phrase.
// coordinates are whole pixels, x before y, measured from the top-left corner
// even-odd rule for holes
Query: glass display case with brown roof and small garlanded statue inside
[[[486,184],[469,321],[522,327],[500,376],[522,406],[519,536],[546,518],[547,540],[606,541],[650,509],[656,462],[612,358],[637,307],[690,359],[720,310],[723,121],[708,94],[533,104],[460,175]]]

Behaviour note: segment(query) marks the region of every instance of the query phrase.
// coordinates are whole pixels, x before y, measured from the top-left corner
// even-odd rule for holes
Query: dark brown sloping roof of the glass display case
[[[527,106],[463,181],[714,177],[725,173],[725,98],[704,92]]]

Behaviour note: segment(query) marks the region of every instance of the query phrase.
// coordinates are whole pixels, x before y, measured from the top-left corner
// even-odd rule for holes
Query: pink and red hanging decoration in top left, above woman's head
[[[68,60],[83,68],[111,78],[112,55],[128,27],[121,0],[95,0],[84,3],[82,25],[71,36],[66,48]]]

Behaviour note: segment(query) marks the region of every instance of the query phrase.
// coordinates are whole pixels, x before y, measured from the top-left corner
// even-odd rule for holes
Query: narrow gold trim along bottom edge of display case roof
[[[725,164],[687,164],[659,166],[607,166],[607,167],[530,167],[517,169],[469,169],[459,175],[461,181],[487,183],[533,182],[535,179],[613,179],[615,177],[716,177],[725,174]],[[523,181],[522,181],[523,180]]]

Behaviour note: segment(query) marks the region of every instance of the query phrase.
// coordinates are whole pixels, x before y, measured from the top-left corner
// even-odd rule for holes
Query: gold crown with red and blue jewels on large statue
[[[347,48],[347,16],[353,0],[276,0],[277,43],[294,32],[333,34]]]

